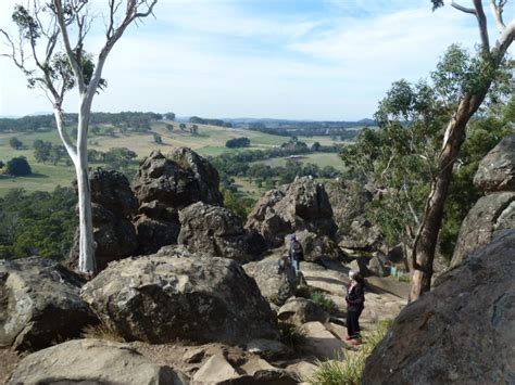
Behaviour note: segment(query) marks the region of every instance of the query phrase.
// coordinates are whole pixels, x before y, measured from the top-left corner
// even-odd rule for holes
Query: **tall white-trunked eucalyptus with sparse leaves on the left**
[[[86,274],[95,273],[91,193],[88,179],[87,136],[91,103],[99,89],[105,61],[127,27],[153,13],[158,0],[106,0],[103,10],[88,0],[29,0],[16,4],[12,20],[17,34],[0,28],[8,44],[3,56],[26,76],[30,88],[45,91],[53,107],[59,136],[76,171],[79,207],[79,264]],[[103,23],[104,41],[97,55],[85,49],[91,28]],[[77,138],[73,142],[63,114],[68,91],[78,91]]]

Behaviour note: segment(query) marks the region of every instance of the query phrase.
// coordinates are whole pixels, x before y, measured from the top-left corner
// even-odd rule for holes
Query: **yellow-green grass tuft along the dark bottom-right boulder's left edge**
[[[387,335],[391,320],[381,320],[376,328],[363,333],[363,344],[357,351],[346,352],[337,360],[317,361],[318,369],[306,381],[312,385],[359,385],[366,358]]]

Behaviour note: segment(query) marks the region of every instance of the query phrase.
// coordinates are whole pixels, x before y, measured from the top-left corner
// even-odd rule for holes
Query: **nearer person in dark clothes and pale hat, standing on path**
[[[351,282],[347,292],[347,339],[360,344],[360,316],[365,307],[365,280],[360,272],[349,271]]]

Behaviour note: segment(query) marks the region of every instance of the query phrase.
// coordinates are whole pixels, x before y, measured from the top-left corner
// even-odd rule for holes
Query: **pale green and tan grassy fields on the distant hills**
[[[152,131],[145,133],[116,132],[114,137],[91,136],[89,138],[88,149],[105,152],[112,147],[128,147],[135,151],[139,158],[142,158],[149,155],[153,150],[160,150],[161,152],[166,153],[174,146],[187,146],[203,156],[216,156],[226,152],[241,151],[238,149],[227,149],[225,146],[225,142],[234,138],[249,138],[251,147],[248,149],[254,150],[277,146],[289,140],[288,137],[206,125],[198,125],[199,136],[194,137],[189,132],[189,126],[190,125],[188,124],[186,131],[181,131],[179,125],[175,123],[174,130],[168,131],[164,124],[158,123],[153,125]],[[159,133],[161,136],[163,141],[162,144],[154,142],[153,133]],[[21,150],[12,149],[9,145],[9,140],[12,137],[20,139],[23,142],[24,147]],[[7,163],[15,156],[25,156],[33,170],[33,176],[30,177],[7,178],[0,175],[0,196],[3,196],[9,190],[14,188],[23,188],[28,191],[52,191],[56,185],[70,185],[74,179],[75,171],[73,167],[68,168],[63,163],[60,163],[56,166],[36,163],[36,159],[34,158],[33,143],[37,139],[55,144],[61,143],[56,130],[37,133],[0,133],[0,161]],[[301,137],[299,140],[306,142],[309,145],[314,142],[319,142],[324,145],[334,143],[334,141],[328,137]],[[279,165],[285,162],[285,159],[271,159],[265,163]],[[313,154],[309,155],[306,159],[303,159],[303,162],[311,162],[317,164],[319,167],[326,165],[331,165],[338,169],[342,167],[342,163],[338,159],[336,154]],[[255,191],[255,188],[253,188],[251,183],[243,180],[239,182],[242,184],[244,191],[249,191],[251,194]]]

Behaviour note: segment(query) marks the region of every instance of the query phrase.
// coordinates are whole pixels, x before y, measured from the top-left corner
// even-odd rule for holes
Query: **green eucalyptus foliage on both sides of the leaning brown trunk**
[[[431,82],[394,82],[375,114],[378,129],[362,130],[354,145],[343,147],[341,157],[350,176],[372,182],[381,192],[380,198],[368,205],[367,214],[381,227],[387,244],[412,244],[438,176],[444,129],[460,99],[493,81],[493,105],[499,111],[499,105],[506,104],[503,85],[511,79],[510,70],[506,66],[492,68],[481,53],[472,57],[459,46],[451,46],[431,74]],[[472,183],[477,163],[506,133],[503,127],[508,120],[501,115],[490,107],[468,125],[469,140],[456,159],[440,234],[447,257],[452,255],[463,218],[479,196]]]

